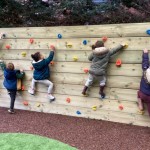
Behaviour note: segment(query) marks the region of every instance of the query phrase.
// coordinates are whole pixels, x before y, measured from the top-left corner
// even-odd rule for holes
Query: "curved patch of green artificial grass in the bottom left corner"
[[[77,150],[62,142],[32,134],[1,133],[0,150]]]

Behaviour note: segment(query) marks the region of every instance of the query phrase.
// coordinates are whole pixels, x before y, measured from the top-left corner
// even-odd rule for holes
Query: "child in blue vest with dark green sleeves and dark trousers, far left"
[[[14,114],[14,104],[16,99],[16,92],[17,92],[17,76],[24,76],[23,70],[15,70],[13,63],[8,63],[5,65],[3,61],[0,62],[0,66],[4,71],[4,82],[3,85],[8,91],[10,95],[10,109],[8,112]]]

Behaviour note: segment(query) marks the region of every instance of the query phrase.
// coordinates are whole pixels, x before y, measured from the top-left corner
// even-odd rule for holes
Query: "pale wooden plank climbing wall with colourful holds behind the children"
[[[17,94],[15,108],[150,127],[148,112],[144,115],[138,114],[136,103],[142,75],[142,49],[150,48],[150,37],[146,34],[149,28],[149,23],[1,28],[0,32],[5,32],[6,38],[0,41],[0,59],[6,63],[13,62],[16,68],[22,68],[26,72],[23,82],[25,89]],[[61,39],[58,34],[62,35]],[[127,42],[128,48],[110,60],[106,99],[98,98],[98,83],[88,91],[89,97],[83,97],[81,91],[88,77],[84,69],[90,66],[90,45],[101,40],[103,36],[108,37],[105,42],[108,48],[113,48],[121,42]],[[31,38],[34,40],[32,44]],[[83,44],[84,40],[87,45]],[[10,49],[6,48],[8,45]],[[51,104],[46,97],[47,87],[37,85],[35,96],[27,92],[33,73],[30,68],[30,55],[40,51],[48,56],[50,45],[56,47],[55,63],[51,66],[56,101]],[[74,58],[78,60],[74,61]],[[118,58],[122,60],[122,66],[119,68],[115,65]],[[9,96],[2,83],[3,72],[0,70],[0,106],[9,107]],[[67,98],[70,98],[70,103],[66,101]],[[24,101],[29,105],[23,105]],[[97,107],[96,111],[92,109],[93,106]],[[123,106],[122,110],[120,106]]]

